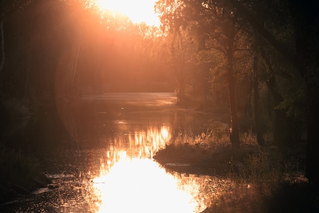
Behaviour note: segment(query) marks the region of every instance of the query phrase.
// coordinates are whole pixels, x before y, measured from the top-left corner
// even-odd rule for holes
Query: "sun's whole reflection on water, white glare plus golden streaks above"
[[[200,212],[205,208],[199,198],[195,177],[181,181],[152,160],[163,149],[171,133],[166,126],[149,128],[115,138],[101,158],[100,174],[92,192],[96,212]]]

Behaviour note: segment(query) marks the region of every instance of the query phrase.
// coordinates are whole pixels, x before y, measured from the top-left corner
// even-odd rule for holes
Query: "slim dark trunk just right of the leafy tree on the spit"
[[[257,143],[259,146],[264,146],[264,140],[263,140],[263,136],[262,136],[261,122],[260,122],[258,58],[257,58],[257,56],[254,57],[253,70],[254,70],[254,114],[255,114],[255,127],[256,127]]]

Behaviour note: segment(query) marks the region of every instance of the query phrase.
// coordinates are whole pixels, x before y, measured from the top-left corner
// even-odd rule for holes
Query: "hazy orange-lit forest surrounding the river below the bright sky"
[[[232,149],[245,128],[260,147],[270,134],[318,187],[316,1],[159,0],[154,10],[159,27],[89,0],[0,1],[0,149],[16,146],[17,118],[56,103],[175,92],[180,105],[229,109]]]

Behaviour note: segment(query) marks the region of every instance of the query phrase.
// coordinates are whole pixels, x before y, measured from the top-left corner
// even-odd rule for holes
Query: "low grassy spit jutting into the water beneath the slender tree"
[[[255,145],[244,145],[232,150],[230,144],[222,147],[211,147],[208,144],[190,143],[169,145],[159,150],[153,159],[165,168],[177,172],[197,175],[226,175],[232,163],[232,169],[238,170],[245,159],[260,150]]]

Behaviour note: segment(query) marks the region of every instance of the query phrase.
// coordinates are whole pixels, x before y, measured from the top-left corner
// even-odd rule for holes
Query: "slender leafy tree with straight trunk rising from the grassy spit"
[[[168,28],[190,26],[197,34],[202,49],[215,49],[223,55],[229,92],[230,140],[233,147],[240,146],[235,98],[236,75],[240,70],[236,68],[236,62],[241,50],[248,49],[242,42],[241,37],[245,36],[245,32],[236,10],[230,5],[210,1],[159,1],[158,4],[157,8],[164,19],[162,22],[169,25]],[[172,10],[176,5],[179,8]]]

